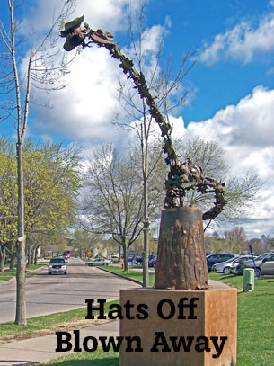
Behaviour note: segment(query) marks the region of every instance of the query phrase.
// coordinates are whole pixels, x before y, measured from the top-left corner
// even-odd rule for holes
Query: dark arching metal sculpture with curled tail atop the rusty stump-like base
[[[84,23],[84,27],[82,27],[83,21],[84,15],[75,18],[72,22],[66,22],[65,29],[60,33],[61,37],[66,38],[64,49],[70,51],[78,46],[82,46],[84,49],[91,47],[93,43],[97,44],[98,47],[107,49],[112,58],[119,59],[119,67],[132,80],[140,98],[146,99],[150,108],[149,112],[161,129],[164,138],[165,163],[169,165],[168,179],[165,181],[164,208],[183,207],[183,199],[190,190],[201,194],[214,193],[214,205],[202,215],[202,219],[215,219],[224,209],[226,203],[224,198],[225,183],[220,183],[211,176],[202,174],[201,168],[194,165],[190,159],[181,163],[172,147],[172,125],[166,121],[155,103],[154,97],[150,94],[144,74],[138,73],[134,68],[133,61],[121,53],[118,43],[113,42],[114,37],[110,32],[102,29],[93,31],[87,23]]]

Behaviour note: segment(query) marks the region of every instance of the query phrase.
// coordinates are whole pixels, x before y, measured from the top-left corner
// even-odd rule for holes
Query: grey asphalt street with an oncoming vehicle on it
[[[134,287],[139,285],[71,258],[67,275],[49,276],[45,267],[27,278],[27,317],[84,308],[85,299],[119,299],[120,289]],[[0,281],[0,323],[14,320],[15,293],[15,281]]]

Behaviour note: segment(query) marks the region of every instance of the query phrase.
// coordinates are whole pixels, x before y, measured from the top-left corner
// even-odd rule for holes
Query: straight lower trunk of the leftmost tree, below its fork
[[[18,240],[17,240],[17,271],[16,271],[16,316],[15,324],[26,326],[26,257],[24,237],[24,197],[22,171],[22,145],[17,144],[18,166]]]

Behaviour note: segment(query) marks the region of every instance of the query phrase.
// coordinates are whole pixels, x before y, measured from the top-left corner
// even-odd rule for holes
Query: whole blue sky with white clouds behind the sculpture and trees
[[[5,26],[7,3],[0,4]],[[54,11],[63,3],[26,0],[18,8],[20,35],[29,41],[17,58],[21,77],[31,47],[49,30]],[[140,1],[133,4],[137,7]],[[110,31],[130,54],[127,6],[128,0],[78,0],[67,21],[84,14],[92,29]],[[164,59],[172,62],[174,73],[187,52],[195,51],[195,66],[178,90],[188,91],[186,103],[170,115],[174,136],[217,141],[226,151],[231,174],[239,179],[247,172],[258,174],[264,182],[261,201],[241,225],[250,238],[274,236],[274,1],[149,0],[144,24],[147,72],[161,39]],[[62,45],[64,39],[58,42]],[[66,88],[50,94],[31,89],[31,98],[50,108],[31,103],[28,136],[74,142],[84,147],[86,156],[102,142],[126,146],[128,132],[111,123],[123,115],[117,92],[121,74],[105,49],[84,49],[65,77]],[[12,121],[0,122],[0,130],[14,137]]]

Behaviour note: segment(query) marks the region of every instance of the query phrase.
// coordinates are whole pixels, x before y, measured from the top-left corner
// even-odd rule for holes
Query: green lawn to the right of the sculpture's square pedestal
[[[243,289],[243,276],[210,273],[209,278]],[[274,360],[274,279],[255,279],[255,289],[238,293],[237,366],[271,366]]]

